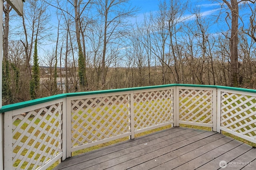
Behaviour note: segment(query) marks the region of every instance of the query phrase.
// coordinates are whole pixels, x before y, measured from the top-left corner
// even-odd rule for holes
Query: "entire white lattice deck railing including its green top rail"
[[[170,84],[61,94],[0,111],[5,170],[46,169],[76,150],[180,123],[256,143],[255,90]]]

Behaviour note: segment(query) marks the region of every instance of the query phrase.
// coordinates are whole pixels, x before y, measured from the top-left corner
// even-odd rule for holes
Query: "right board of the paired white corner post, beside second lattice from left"
[[[71,157],[71,98],[66,98],[66,158]],[[65,129],[63,129],[65,131]]]

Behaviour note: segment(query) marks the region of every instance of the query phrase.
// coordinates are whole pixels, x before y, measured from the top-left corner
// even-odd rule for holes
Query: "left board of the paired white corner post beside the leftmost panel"
[[[62,103],[62,161],[67,158],[67,98]]]

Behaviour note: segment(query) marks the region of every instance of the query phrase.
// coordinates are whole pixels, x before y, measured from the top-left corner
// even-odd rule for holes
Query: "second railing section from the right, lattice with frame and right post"
[[[216,131],[216,88],[180,87],[179,123],[212,127]]]

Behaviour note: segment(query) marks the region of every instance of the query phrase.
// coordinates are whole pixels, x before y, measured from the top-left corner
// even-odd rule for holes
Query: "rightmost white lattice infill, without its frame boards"
[[[256,97],[222,92],[220,124],[256,139]]]

